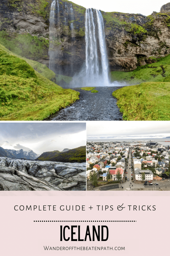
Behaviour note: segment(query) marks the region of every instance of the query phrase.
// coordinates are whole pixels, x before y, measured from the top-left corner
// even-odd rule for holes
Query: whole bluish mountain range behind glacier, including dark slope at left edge
[[[23,159],[30,159],[34,160],[39,155],[34,153],[32,150],[26,151],[23,149],[14,150],[14,149],[4,149],[0,147],[0,156],[8,157],[8,158],[23,158]]]

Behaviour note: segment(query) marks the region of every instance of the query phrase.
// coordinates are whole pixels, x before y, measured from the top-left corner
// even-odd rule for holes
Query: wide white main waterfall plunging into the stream
[[[109,86],[109,65],[103,17],[99,10],[86,9],[86,86]]]

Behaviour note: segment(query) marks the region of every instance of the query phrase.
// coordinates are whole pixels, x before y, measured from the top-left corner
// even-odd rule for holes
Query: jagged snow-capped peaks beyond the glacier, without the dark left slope
[[[25,159],[30,159],[30,160],[34,160],[35,158],[37,158],[38,154],[34,153],[32,150],[14,150],[14,149],[5,149],[6,151],[8,151],[9,153],[15,155],[14,157],[16,158],[25,158]]]

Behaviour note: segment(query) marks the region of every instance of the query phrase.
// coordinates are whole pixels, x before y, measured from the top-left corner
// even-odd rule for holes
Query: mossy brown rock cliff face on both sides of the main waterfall
[[[54,26],[49,35],[51,2],[2,0],[0,43],[49,67],[50,41],[51,66],[58,74],[72,76],[85,60],[85,8],[63,0],[57,5],[56,1]],[[169,54],[168,6],[161,8],[163,13],[153,12],[148,17],[101,11],[111,71],[133,70],[154,62],[154,57]]]

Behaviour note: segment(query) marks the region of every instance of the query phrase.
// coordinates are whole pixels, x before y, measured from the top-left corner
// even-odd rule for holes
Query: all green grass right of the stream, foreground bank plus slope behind
[[[170,120],[170,55],[130,72],[111,72],[112,81],[127,86],[113,92],[124,120]],[[143,83],[144,82],[144,83]]]

